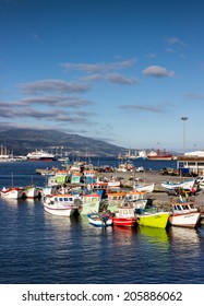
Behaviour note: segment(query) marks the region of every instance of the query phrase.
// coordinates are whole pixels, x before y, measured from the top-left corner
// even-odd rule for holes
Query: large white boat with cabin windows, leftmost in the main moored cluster
[[[46,212],[61,216],[71,216],[80,213],[81,201],[76,201],[77,197],[72,195],[53,195],[44,198],[44,209]]]

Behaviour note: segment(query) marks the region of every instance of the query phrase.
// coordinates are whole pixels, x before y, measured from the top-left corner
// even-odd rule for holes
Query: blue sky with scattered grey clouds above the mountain
[[[203,150],[203,0],[0,0],[0,131]]]

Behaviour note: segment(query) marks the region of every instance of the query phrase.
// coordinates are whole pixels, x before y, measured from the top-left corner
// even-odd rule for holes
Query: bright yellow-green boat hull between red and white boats
[[[136,214],[139,225],[166,228],[169,212],[141,212]]]

